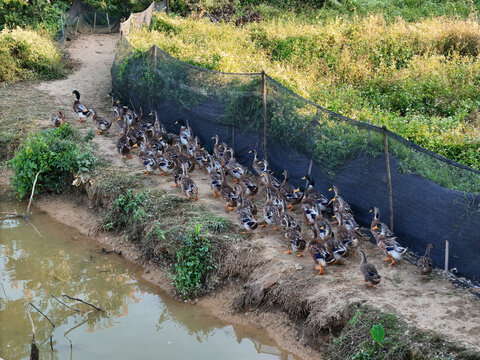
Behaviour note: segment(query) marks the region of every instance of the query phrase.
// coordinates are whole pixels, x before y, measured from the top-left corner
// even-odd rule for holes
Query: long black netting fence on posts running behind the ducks
[[[335,184],[367,227],[374,205],[389,224],[387,141],[400,242],[418,254],[433,243],[432,258],[443,268],[448,241],[448,267],[480,280],[480,172],[386,129],[328,111],[262,73],[206,70],[156,47],[136,51],[125,37],[117,46],[112,81],[125,104],[145,113],[156,110],[168,130],[178,131],[175,122],[188,119],[207,149],[218,134],[245,165],[252,164],[250,149],[263,157],[266,148],[272,169],[277,174],[287,169],[293,184],[305,185],[301,178],[311,174],[326,195]]]

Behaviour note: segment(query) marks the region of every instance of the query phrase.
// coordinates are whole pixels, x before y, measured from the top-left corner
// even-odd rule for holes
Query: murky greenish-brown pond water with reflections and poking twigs
[[[0,195],[0,213],[15,210],[25,211]],[[141,273],[38,210],[31,224],[0,220],[0,358],[29,358],[31,325],[23,302],[35,324],[41,359],[295,359],[262,331],[225,324],[171,299]]]

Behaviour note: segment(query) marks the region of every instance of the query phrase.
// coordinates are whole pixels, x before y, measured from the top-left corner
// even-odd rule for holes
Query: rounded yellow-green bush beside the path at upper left
[[[51,38],[20,28],[0,31],[0,82],[63,75],[62,53]]]

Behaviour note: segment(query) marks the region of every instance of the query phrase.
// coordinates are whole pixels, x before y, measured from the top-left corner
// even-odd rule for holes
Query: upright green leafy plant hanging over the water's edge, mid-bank
[[[215,264],[212,245],[200,231],[201,225],[183,238],[183,246],[177,252],[177,263],[171,275],[177,291],[186,299],[198,295]]]

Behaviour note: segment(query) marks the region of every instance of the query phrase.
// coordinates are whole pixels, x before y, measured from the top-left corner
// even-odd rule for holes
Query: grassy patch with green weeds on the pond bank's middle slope
[[[216,270],[234,226],[205,207],[163,191],[127,189],[102,220],[123,233],[147,260],[170,266],[178,293],[192,298],[216,284]]]

